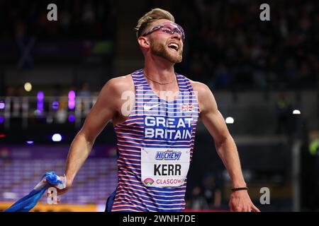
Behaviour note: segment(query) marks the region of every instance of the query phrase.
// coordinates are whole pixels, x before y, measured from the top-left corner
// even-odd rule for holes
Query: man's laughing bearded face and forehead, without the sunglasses
[[[156,25],[165,25],[167,28],[171,26],[169,29],[174,29],[174,24],[169,20],[157,20],[149,28],[153,28]],[[147,36],[150,39],[150,51],[152,54],[163,57],[174,64],[181,62],[184,43],[180,32],[171,34],[165,32],[164,29],[157,29]]]

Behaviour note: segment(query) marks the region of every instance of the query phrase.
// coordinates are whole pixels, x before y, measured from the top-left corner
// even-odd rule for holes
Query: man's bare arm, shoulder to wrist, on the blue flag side
[[[111,119],[121,110],[123,100],[121,94],[130,85],[128,78],[113,78],[103,86],[94,107],[84,121],[82,129],[77,133],[69,148],[65,175],[71,186],[74,177],[89,156],[96,137]]]

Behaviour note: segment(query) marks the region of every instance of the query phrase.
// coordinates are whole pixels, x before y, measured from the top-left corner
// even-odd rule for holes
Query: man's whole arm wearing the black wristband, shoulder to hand
[[[230,136],[222,114],[218,111],[213,93],[203,83],[194,83],[192,85],[194,90],[198,92],[200,118],[215,141],[217,153],[228,170],[233,187],[245,187],[246,183],[242,175],[240,158],[235,142]],[[259,212],[245,190],[232,191],[229,206],[231,211],[250,212],[253,210]]]

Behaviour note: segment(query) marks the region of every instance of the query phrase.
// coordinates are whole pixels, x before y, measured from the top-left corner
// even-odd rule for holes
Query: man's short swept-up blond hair
[[[166,11],[162,8],[152,8],[151,11],[145,13],[144,16],[138,20],[138,25],[135,27],[136,37],[140,37],[142,31],[145,30],[150,23],[160,19],[171,20],[173,23],[175,23],[175,18],[171,13],[169,13],[169,11]]]

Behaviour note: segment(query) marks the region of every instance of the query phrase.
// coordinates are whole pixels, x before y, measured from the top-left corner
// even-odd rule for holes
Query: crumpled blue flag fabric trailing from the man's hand
[[[43,182],[43,179],[47,179],[47,182],[56,186],[58,189],[65,188],[65,177],[62,177],[62,180],[60,180],[60,177],[58,177],[54,171],[46,172],[41,178],[41,181],[28,195],[19,199],[18,201],[16,201],[16,203],[13,203],[12,206],[7,208],[3,212],[28,212],[30,209],[32,209],[49,187],[47,183]]]

